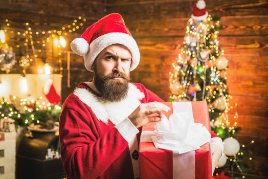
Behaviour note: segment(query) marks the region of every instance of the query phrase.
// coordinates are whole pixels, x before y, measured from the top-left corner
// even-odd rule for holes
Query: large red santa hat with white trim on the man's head
[[[88,27],[81,35],[71,42],[71,49],[78,55],[84,56],[85,68],[93,72],[93,62],[99,53],[111,44],[122,44],[132,54],[130,71],[140,62],[140,52],[136,41],[126,28],[123,17],[111,13]]]

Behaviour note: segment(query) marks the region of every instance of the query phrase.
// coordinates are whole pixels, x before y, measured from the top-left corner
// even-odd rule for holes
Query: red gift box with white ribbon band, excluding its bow
[[[205,101],[200,102],[168,102],[170,107],[167,118],[171,114],[189,111],[195,123],[202,123],[210,132],[208,107]],[[200,149],[178,154],[171,150],[155,148],[152,142],[143,142],[144,131],[153,131],[155,123],[148,123],[142,128],[140,142],[140,178],[212,178],[211,151],[209,143]],[[144,133],[143,133],[144,132]],[[192,161],[192,162],[191,162]]]

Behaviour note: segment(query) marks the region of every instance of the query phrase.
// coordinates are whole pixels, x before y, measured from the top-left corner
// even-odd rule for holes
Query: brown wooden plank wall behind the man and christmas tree
[[[8,18],[8,30],[24,30],[24,23],[33,24],[35,30],[59,29],[78,16],[87,19],[85,27],[102,16],[119,12],[136,39],[141,52],[141,62],[131,73],[132,82],[141,82],[161,98],[167,100],[168,72],[182,47],[186,22],[196,1],[192,0],[107,0],[107,1],[0,1],[0,22]],[[238,119],[242,127],[239,141],[254,144],[249,148],[253,160],[252,171],[246,178],[267,178],[268,165],[268,1],[267,0],[210,0],[207,11],[220,14],[220,45],[229,59],[228,86],[233,96],[231,104],[238,103]],[[68,36],[68,43],[85,28]],[[23,38],[9,34],[12,46],[24,43]],[[66,81],[66,47],[63,52],[62,101],[81,81],[93,74],[83,66],[83,58],[71,54],[71,87]],[[18,51],[18,49],[16,49]],[[49,63],[57,73],[58,63],[48,55]],[[18,73],[16,69],[11,73]],[[233,111],[230,113],[232,118]],[[234,122],[234,121],[233,121]]]

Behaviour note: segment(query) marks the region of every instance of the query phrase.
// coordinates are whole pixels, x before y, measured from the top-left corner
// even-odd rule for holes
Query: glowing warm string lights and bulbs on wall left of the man
[[[79,16],[69,25],[52,30],[34,30],[30,23],[27,22],[24,23],[25,30],[21,30],[21,28],[16,29],[12,27],[12,21],[5,19],[4,26],[0,26],[0,50],[4,53],[0,56],[1,70],[9,73],[12,66],[18,62],[18,69],[21,71],[21,90],[25,93],[28,91],[26,69],[32,65],[32,63],[34,63],[37,68],[37,74],[50,75],[54,71],[57,72],[59,69],[60,77],[62,77],[62,60],[65,58],[64,53],[70,53],[64,50],[66,47],[65,37],[81,29],[85,22],[86,19]],[[24,41],[19,40],[15,47],[9,47],[6,36],[8,34],[10,36],[13,34],[13,36],[24,39]],[[16,52],[20,52],[18,60],[15,59],[14,48],[17,48]],[[51,56],[52,61],[57,60],[58,69],[53,69],[49,64],[49,56]],[[70,78],[68,80],[70,80]],[[0,79],[0,85],[1,83],[2,81]]]

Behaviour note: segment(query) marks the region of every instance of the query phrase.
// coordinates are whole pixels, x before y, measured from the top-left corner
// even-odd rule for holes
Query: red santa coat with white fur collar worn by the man
[[[68,178],[139,178],[141,128],[127,117],[141,103],[163,100],[142,84],[129,83],[125,100],[105,103],[90,84],[79,84],[60,115],[61,159]],[[212,138],[221,147],[213,132]]]

